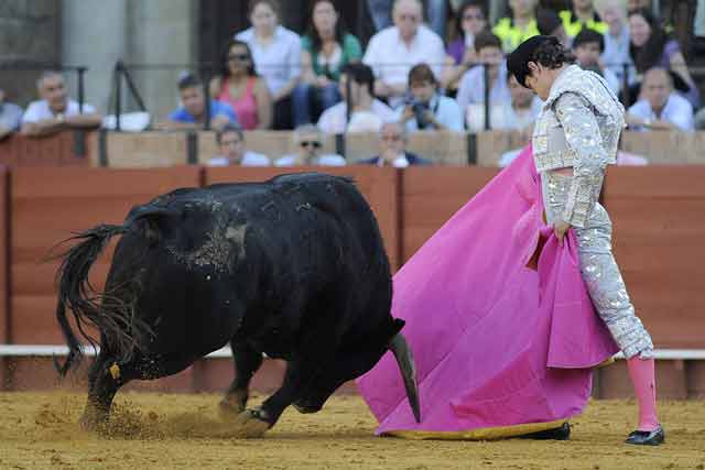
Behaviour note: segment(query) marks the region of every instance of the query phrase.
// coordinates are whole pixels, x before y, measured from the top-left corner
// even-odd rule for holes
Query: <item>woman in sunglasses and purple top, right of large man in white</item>
[[[458,10],[456,21],[457,37],[447,48],[446,64],[441,83],[447,94],[457,94],[460,77],[477,65],[475,37],[487,29],[487,15],[480,0],[466,0]]]

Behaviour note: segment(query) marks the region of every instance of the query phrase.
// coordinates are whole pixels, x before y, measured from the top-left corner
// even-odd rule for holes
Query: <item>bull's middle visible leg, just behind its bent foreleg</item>
[[[250,381],[262,365],[262,353],[252,349],[251,346],[232,340],[230,347],[234,356],[235,379],[219,404],[220,414],[224,417],[237,416],[245,411],[249,398]]]

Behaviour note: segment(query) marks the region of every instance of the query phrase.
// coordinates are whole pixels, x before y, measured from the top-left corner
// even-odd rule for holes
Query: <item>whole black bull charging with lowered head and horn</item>
[[[88,272],[121,234],[104,293]],[[391,274],[377,221],[351,181],[322,174],[178,189],[134,207],[122,226],[78,233],[57,273],[56,317],[82,359],[77,334],[100,332],[82,424],[105,423],[118,389],[177,373],[228,342],[236,378],[220,408],[246,435],[285,407],[314,413],[387,350],[419,420],[414,363],[393,319]],[[246,409],[262,353],[286,361],[281,387]]]

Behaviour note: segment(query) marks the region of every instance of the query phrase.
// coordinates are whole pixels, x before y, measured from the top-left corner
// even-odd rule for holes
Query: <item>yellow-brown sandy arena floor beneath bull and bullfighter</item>
[[[288,411],[262,439],[242,440],[216,414],[216,395],[123,393],[108,435],[78,429],[85,396],[0,394],[1,469],[705,469],[705,403],[660,404],[668,444],[621,444],[633,402],[593,402],[571,441],[410,441],[373,437],[356,396],[317,415]],[[256,398],[257,402],[257,398]]]

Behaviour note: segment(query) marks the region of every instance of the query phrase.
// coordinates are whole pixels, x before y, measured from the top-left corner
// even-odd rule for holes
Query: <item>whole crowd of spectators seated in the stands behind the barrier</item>
[[[419,130],[517,130],[528,141],[542,102],[508,76],[505,56],[536,34],[556,36],[581,67],[601,75],[626,103],[631,129],[705,127],[680,44],[649,1],[572,0],[570,10],[553,11],[539,0],[509,0],[508,14],[492,25],[480,0],[368,0],[378,32],[366,47],[333,0],[312,3],[300,36],[280,24],[276,0],[252,0],[251,26],[224,45],[216,76],[207,87],[182,76],[181,107],[155,128],[209,122],[220,149],[214,165],[345,164],[321,153],[322,135],[345,132],[379,133],[380,155],[365,163],[398,167],[427,163],[404,150],[406,134]],[[37,89],[41,99],[24,112],[0,90],[0,139],[100,124],[90,105],[79,110],[68,97],[61,74],[45,73]],[[242,131],[254,129],[294,129],[297,153],[270,160],[246,151]]]

